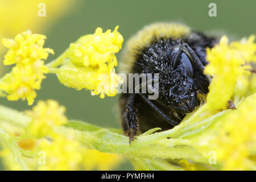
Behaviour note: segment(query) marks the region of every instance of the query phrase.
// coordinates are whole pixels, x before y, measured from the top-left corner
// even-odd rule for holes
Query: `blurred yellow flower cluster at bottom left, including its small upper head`
[[[20,140],[18,144],[23,150],[31,150],[40,154],[36,154],[37,159],[31,163],[33,168],[39,170],[109,170],[121,162],[122,158],[119,155],[82,147],[80,142],[74,139],[71,130],[68,130],[65,135],[55,133],[53,127],[68,122],[64,113],[65,107],[59,106],[53,100],[39,101],[31,111],[26,111],[26,114],[32,118],[25,129],[25,135],[29,139]],[[42,138],[44,136],[51,139]]]

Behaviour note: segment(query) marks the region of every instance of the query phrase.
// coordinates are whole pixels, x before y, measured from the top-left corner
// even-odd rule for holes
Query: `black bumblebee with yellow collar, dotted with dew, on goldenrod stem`
[[[122,93],[119,99],[122,128],[130,142],[138,131],[179,125],[200,104],[210,82],[203,73],[205,48],[217,42],[184,24],[164,22],[144,27],[127,42],[119,72],[159,74],[157,99],[149,100],[141,92]]]

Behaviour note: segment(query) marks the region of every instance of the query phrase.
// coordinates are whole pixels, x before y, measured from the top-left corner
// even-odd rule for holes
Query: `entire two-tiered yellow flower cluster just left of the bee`
[[[93,95],[101,98],[115,96],[122,79],[115,73],[117,66],[115,53],[122,47],[123,37],[115,30],[102,32],[97,28],[93,35],[82,36],[71,43],[67,56],[72,62],[60,67],[57,76],[65,86],[92,90]]]

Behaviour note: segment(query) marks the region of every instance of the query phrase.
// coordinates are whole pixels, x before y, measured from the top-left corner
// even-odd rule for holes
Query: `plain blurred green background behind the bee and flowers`
[[[208,15],[208,5],[211,2],[217,5],[217,17]],[[118,31],[124,38],[123,45],[144,25],[158,21],[183,22],[193,30],[218,30],[240,39],[256,32],[255,7],[256,1],[79,0],[71,11],[61,16],[49,28],[37,33],[46,35],[44,47],[55,51],[55,55],[48,57],[49,62],[60,55],[71,42],[75,42],[82,35],[92,34],[97,27],[102,27],[105,31],[108,28],[113,30],[119,25]],[[24,11],[30,10],[24,7]],[[120,53],[117,58],[119,55]],[[1,59],[3,60],[3,57]],[[53,99],[67,107],[66,114],[69,119],[80,119],[102,127],[120,127],[116,108],[118,96],[104,99],[91,96],[88,90],[76,91],[61,85],[55,75],[48,75],[47,79],[43,80],[42,89],[37,93],[36,100]],[[10,102],[5,98],[0,98],[0,104],[18,110],[31,108],[26,101]],[[125,163],[118,169],[132,167]]]

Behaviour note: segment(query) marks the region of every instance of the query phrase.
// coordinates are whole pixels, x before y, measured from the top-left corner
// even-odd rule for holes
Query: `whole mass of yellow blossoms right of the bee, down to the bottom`
[[[216,152],[217,164],[224,170],[253,169],[256,86],[255,75],[250,77],[249,62],[256,61],[254,36],[230,44],[226,36],[222,37],[220,44],[207,49],[207,60],[205,73],[213,76],[205,104],[207,112],[214,114],[214,109],[225,109],[232,97],[240,99],[236,101],[236,110],[226,110],[224,115],[213,119],[213,126],[193,138],[192,145],[207,158],[209,152]]]

